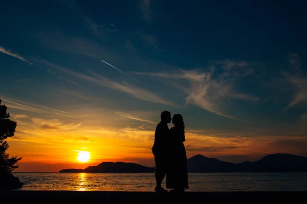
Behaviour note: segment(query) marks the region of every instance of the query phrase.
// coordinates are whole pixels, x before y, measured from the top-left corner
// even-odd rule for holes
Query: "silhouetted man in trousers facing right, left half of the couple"
[[[155,132],[155,142],[151,148],[153,156],[155,156],[156,163],[156,183],[157,186],[155,188],[156,192],[167,192],[164,188],[162,188],[161,184],[164,179],[167,170],[167,139],[169,135],[169,129],[167,123],[170,123],[171,116],[170,112],[162,111],[161,113],[161,121],[156,127]]]

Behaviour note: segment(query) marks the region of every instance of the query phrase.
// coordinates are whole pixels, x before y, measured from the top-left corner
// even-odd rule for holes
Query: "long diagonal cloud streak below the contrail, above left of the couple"
[[[165,105],[173,105],[171,102],[163,99],[162,97],[160,97],[157,94],[151,93],[150,91],[147,91],[145,89],[142,88],[138,88],[138,87],[133,87],[133,86],[127,86],[124,84],[120,84],[117,82],[114,82],[112,80],[109,80],[105,77],[102,77],[101,75],[94,73],[92,71],[89,71],[91,74],[94,75],[94,77],[86,75],[86,74],[82,74],[82,73],[78,73],[76,71],[70,70],[68,68],[47,62],[45,60],[40,60],[41,63],[52,67],[54,69],[66,72],[70,75],[73,75],[75,77],[81,78],[83,80],[86,80],[88,82],[97,84],[97,85],[101,85],[101,86],[105,86],[105,87],[109,87],[109,88],[113,88],[119,91],[122,91],[124,93],[127,93],[131,96],[134,96],[136,98],[142,99],[142,100],[147,100],[147,101],[151,101],[153,103],[159,103],[159,104],[165,104]]]

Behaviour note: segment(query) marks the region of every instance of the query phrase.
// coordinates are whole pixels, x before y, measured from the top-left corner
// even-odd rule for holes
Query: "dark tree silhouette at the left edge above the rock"
[[[1,101],[0,99],[0,171],[7,170],[11,172],[18,168],[18,165],[15,164],[21,160],[21,158],[9,157],[9,154],[6,153],[9,145],[5,139],[14,136],[17,123],[10,120],[10,114],[7,113],[7,107],[1,105]]]

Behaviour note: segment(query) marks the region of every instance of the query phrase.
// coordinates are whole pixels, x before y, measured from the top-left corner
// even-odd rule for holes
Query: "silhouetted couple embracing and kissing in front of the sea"
[[[167,123],[173,123],[168,129]],[[166,188],[170,192],[184,192],[188,186],[187,155],[183,142],[185,141],[184,121],[182,115],[170,112],[161,113],[161,121],[156,127],[155,142],[152,154],[156,162],[156,192],[168,192],[161,184],[166,175]]]

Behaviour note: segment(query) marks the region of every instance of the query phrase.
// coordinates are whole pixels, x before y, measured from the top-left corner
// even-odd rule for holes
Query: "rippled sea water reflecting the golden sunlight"
[[[13,173],[19,190],[153,191],[154,173]],[[307,173],[189,173],[186,191],[307,191]],[[165,179],[162,183],[165,188]]]

